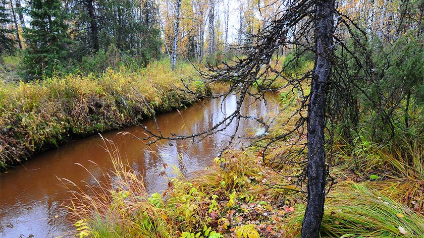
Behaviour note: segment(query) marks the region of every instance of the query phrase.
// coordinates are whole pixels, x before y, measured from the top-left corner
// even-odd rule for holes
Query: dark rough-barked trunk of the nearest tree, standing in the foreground
[[[302,224],[302,238],[317,238],[324,214],[326,161],[324,149],[325,108],[331,74],[333,14],[335,1],[315,3],[315,65],[308,104],[308,203]]]

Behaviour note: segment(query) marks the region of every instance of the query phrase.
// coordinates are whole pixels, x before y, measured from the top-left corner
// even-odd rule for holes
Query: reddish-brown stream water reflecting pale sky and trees
[[[218,93],[223,89],[218,90]],[[274,97],[267,95],[268,104],[256,102],[251,105],[247,99],[244,114],[266,116],[277,111],[278,106],[272,103]],[[157,122],[164,135],[170,132],[191,134],[207,130],[223,118],[223,113],[231,113],[236,107],[236,95],[225,99],[214,99],[200,107],[193,105],[178,112],[165,113],[157,117]],[[155,128],[152,120],[143,125]],[[252,121],[244,121],[239,134],[255,133],[258,125]],[[226,145],[228,135],[235,130],[231,125],[226,131],[215,134],[199,143],[192,141],[164,142],[147,148],[143,142],[131,135],[116,135],[117,131],[104,133],[103,137],[111,139],[118,146],[121,156],[143,175],[149,192],[161,191],[164,180],[159,175],[163,163],[177,166],[184,174],[204,168],[213,162],[213,158]],[[136,136],[144,132],[140,127],[126,128],[123,131]],[[66,211],[62,204],[71,197],[61,186],[57,177],[67,178],[84,188],[86,181],[94,184],[88,172],[75,163],[80,163],[95,176],[100,170],[89,162],[92,160],[102,169],[111,168],[109,156],[101,147],[102,140],[98,135],[79,139],[61,146],[58,149],[43,153],[25,162],[21,167],[0,175],[0,237],[64,237],[71,236],[72,224],[67,221]],[[247,145],[247,141],[234,143],[238,147]],[[179,157],[180,155],[180,157]],[[171,166],[169,166],[171,167]]]

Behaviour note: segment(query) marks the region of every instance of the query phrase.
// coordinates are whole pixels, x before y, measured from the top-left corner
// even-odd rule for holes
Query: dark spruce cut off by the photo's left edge
[[[14,30],[10,27],[12,19],[6,9],[6,1],[0,0],[0,54],[14,49],[14,40],[9,38]]]

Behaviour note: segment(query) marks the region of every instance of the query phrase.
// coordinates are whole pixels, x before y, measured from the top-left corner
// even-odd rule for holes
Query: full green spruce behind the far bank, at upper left
[[[68,15],[60,0],[30,0],[26,12],[31,27],[25,28],[25,77],[32,80],[51,76],[63,67],[69,53]]]

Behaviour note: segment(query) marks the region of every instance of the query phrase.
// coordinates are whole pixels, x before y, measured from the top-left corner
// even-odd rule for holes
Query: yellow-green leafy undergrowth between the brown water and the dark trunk
[[[87,185],[90,193],[64,181],[76,191],[68,209],[81,237],[280,237],[278,221],[294,211],[294,198],[262,185],[277,176],[260,155],[229,150],[191,179],[176,171],[163,194],[148,195],[115,145],[105,140],[105,148],[114,169]]]

